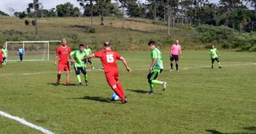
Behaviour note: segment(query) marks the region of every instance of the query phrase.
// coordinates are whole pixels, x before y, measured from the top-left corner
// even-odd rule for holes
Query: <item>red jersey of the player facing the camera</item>
[[[67,64],[68,63],[68,55],[70,55],[71,50],[69,46],[58,46],[56,50],[56,55],[59,56],[58,63]]]

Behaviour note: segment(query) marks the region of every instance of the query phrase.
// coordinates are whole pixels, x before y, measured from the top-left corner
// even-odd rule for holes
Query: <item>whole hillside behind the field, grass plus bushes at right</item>
[[[32,22],[33,18],[25,18]],[[0,17],[0,43],[5,41],[35,41],[34,26],[26,26],[24,20],[7,16]],[[121,29],[121,18],[106,17],[104,25],[100,25],[100,18],[93,18],[95,33],[90,32],[90,18],[39,18],[39,39],[41,41],[60,40],[66,38],[74,49],[79,43],[88,42],[95,50],[102,47],[102,42],[112,43],[114,50],[144,51],[148,50],[147,42],[154,40],[162,50],[169,50],[169,46],[179,39],[184,50],[198,50],[209,48],[212,42],[218,48],[238,51],[256,51],[256,33],[244,33],[229,27],[214,27],[202,25],[177,25],[171,27],[171,37],[167,36],[165,22],[154,22],[142,18],[127,18],[125,27]],[[58,45],[52,44],[51,50]]]

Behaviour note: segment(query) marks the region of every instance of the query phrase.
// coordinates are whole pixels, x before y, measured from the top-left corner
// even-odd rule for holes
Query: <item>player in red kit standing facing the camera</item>
[[[66,39],[62,39],[61,46],[58,46],[56,50],[56,56],[54,59],[54,65],[56,65],[56,60],[58,58],[58,79],[55,83],[55,86],[58,86],[60,84],[60,76],[62,71],[66,71],[67,73],[67,82],[66,86],[70,85],[70,66],[68,65],[68,56],[70,56],[71,50],[70,47],[66,45],[67,41]],[[70,58],[71,59],[71,58]]]

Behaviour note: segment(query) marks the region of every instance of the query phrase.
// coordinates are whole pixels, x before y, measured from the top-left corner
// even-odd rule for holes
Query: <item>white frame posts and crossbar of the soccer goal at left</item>
[[[20,44],[22,44],[22,47],[23,47],[23,50],[24,50],[24,53],[26,53],[25,52],[25,43],[38,43],[38,42],[43,42],[43,43],[47,43],[47,54],[48,54],[48,56],[47,56],[47,61],[49,61],[49,59],[50,59],[50,52],[49,52],[49,42],[61,42],[61,41],[7,41],[7,42],[5,42],[5,46],[6,46],[6,49],[8,50],[8,44],[9,43],[20,43]],[[45,50],[46,51],[46,50]],[[8,60],[8,54],[7,54],[7,60]],[[43,58],[42,59],[24,59],[24,61],[43,61],[43,60],[45,60],[45,52],[44,52],[44,54],[43,54]],[[8,60],[8,61],[19,61],[19,60]]]

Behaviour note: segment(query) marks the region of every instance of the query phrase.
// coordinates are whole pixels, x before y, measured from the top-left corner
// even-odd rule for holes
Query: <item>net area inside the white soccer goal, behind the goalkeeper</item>
[[[18,48],[23,48],[24,61],[42,61],[49,60],[49,41],[21,41],[5,42],[8,50],[8,61],[19,61]]]

